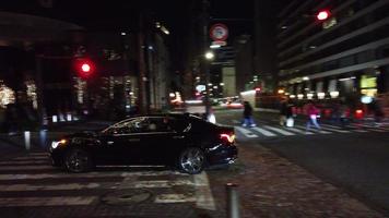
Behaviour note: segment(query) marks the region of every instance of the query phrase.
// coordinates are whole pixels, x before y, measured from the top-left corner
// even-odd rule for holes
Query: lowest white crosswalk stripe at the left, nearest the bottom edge
[[[71,206],[90,205],[97,196],[87,197],[0,197],[0,207],[36,207],[36,206]]]

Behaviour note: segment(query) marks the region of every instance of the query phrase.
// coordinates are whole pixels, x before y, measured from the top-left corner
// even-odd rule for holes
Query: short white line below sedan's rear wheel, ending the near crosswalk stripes
[[[207,173],[202,171],[200,174],[194,174],[193,179],[196,185],[196,206],[201,209],[216,210]]]

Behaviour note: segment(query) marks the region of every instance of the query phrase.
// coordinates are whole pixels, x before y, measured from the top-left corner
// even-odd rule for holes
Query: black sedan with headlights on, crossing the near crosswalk
[[[190,114],[133,117],[98,132],[52,142],[54,166],[84,172],[94,166],[165,165],[187,173],[237,158],[234,129]]]

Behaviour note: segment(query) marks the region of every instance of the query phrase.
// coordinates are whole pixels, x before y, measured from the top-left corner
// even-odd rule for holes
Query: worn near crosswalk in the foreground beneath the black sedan
[[[107,197],[107,193],[129,196],[133,195],[128,194],[131,191],[140,190],[152,193],[148,204],[189,204],[215,210],[205,172],[190,175],[164,168],[102,168],[87,173],[69,173],[51,167],[44,152],[0,160],[0,213],[4,208],[19,207],[31,210],[93,207],[104,202],[103,196],[107,201],[119,198],[122,204],[123,196]],[[133,203],[131,201],[129,204]]]

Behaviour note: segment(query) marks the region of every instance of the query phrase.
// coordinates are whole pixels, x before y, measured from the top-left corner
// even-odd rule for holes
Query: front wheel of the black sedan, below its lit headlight
[[[64,157],[64,168],[69,172],[86,172],[92,168],[91,155],[81,148],[72,148]]]

